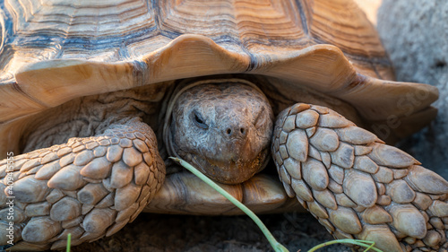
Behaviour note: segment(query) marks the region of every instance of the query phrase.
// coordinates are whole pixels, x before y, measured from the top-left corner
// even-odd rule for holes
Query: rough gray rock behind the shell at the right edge
[[[448,178],[448,2],[383,0],[377,29],[398,81],[428,83],[440,91],[435,121],[399,147]]]

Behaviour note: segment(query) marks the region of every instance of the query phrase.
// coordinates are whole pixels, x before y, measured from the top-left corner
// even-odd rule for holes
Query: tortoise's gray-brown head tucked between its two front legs
[[[242,183],[264,168],[273,113],[254,84],[199,82],[176,97],[169,125],[172,152],[225,184]]]

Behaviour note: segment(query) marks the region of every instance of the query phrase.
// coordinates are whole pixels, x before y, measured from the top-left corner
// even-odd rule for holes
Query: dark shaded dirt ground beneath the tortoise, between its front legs
[[[308,213],[259,216],[290,252],[307,251],[332,236]],[[72,248],[73,252],[118,251],[273,251],[263,233],[246,216],[185,216],[142,213],[112,237]],[[320,252],[349,252],[332,245]]]

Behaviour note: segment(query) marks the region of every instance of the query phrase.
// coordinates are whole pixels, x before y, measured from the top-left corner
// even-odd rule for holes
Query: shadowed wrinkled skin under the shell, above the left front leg
[[[103,134],[113,124],[141,117],[158,130],[161,100],[169,83],[156,83],[151,89],[140,87],[70,100],[30,117],[24,124],[22,152],[67,143],[71,137]],[[161,143],[161,141],[159,142]]]

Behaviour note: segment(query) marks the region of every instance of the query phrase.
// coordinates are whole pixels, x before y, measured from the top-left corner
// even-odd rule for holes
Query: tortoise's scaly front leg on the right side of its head
[[[331,109],[282,111],[271,149],[288,195],[335,238],[390,252],[448,247],[448,182]]]

